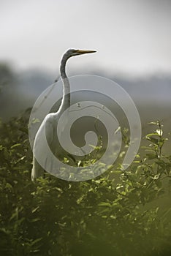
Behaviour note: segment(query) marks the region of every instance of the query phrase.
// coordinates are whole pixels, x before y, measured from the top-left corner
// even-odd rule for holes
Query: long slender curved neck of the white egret
[[[66,61],[68,59],[69,58],[64,55],[61,60],[61,67],[60,67],[61,78],[63,82],[63,98],[61,101],[61,106],[59,108],[61,113],[63,113],[64,110],[66,110],[70,106],[70,86],[69,86],[69,80],[66,76],[66,71],[65,71]]]

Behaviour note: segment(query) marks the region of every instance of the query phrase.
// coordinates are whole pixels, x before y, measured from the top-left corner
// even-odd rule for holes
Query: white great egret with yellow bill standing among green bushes
[[[64,110],[69,108],[70,105],[70,88],[69,88],[69,80],[66,76],[66,61],[72,57],[77,55],[83,55],[86,53],[95,53],[95,50],[75,50],[75,49],[69,49],[64,53],[64,56],[61,59],[61,66],[60,66],[60,72],[61,72],[61,79],[63,81],[63,99],[61,101],[61,106],[58,109],[56,113],[49,113],[47,116],[45,116],[45,119],[42,121],[42,124],[40,125],[37,135],[34,140],[34,148],[33,152],[39,151],[41,154],[44,154],[43,157],[45,158],[46,162],[46,156],[45,152],[43,151],[43,145],[42,142],[42,132],[45,130],[46,132],[46,140],[50,148],[56,152],[58,148],[56,148],[56,144],[54,141],[56,141],[56,129],[58,125],[58,118],[61,116],[62,113],[64,113]],[[53,152],[53,154],[55,153]],[[39,162],[37,162],[36,157],[33,154],[33,168],[31,170],[31,180],[34,181],[39,176],[42,176],[44,173],[44,168],[39,165]]]

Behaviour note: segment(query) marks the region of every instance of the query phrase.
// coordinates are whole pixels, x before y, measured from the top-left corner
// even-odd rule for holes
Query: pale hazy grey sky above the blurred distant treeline
[[[170,72],[170,28],[170,0],[0,0],[0,61],[55,71],[66,49],[80,48],[97,53],[69,69]]]

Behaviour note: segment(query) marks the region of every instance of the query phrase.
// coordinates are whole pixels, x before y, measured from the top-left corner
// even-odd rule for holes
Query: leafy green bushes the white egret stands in
[[[171,156],[159,121],[124,172],[32,183],[28,115],[0,127],[0,255],[171,255]]]

